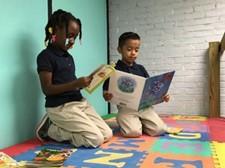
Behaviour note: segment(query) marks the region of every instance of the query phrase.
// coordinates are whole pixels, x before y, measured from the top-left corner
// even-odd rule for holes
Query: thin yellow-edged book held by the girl
[[[113,65],[101,65],[90,74],[90,76],[93,76],[93,79],[85,90],[88,93],[92,93],[102,82],[108,79],[114,71],[115,69]]]

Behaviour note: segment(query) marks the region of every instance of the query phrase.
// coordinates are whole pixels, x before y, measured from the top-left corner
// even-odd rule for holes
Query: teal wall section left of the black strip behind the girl
[[[42,109],[36,55],[44,47],[47,2],[0,5],[0,149],[34,135]]]

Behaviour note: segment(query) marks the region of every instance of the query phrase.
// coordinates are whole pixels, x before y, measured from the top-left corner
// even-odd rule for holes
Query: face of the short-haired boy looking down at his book
[[[122,56],[122,61],[128,65],[133,65],[138,56],[140,45],[140,40],[128,39],[122,47],[118,47],[118,52]]]

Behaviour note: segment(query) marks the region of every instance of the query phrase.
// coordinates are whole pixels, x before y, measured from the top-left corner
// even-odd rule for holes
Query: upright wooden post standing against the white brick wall
[[[209,43],[209,117],[220,117],[220,42]]]

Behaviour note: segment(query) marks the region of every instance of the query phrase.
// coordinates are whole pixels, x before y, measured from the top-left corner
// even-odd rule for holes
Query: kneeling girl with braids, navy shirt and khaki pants
[[[69,141],[76,147],[98,147],[112,130],[82,96],[92,76],[77,78],[68,49],[81,40],[81,21],[64,10],[55,11],[45,27],[46,49],[37,57],[37,71],[45,94],[46,115],[36,130],[40,140]]]

